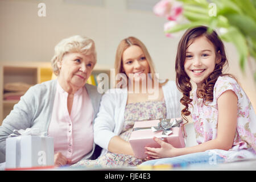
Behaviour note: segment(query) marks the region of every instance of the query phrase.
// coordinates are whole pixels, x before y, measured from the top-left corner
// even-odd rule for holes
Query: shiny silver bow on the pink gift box
[[[152,126],[151,130],[153,132],[157,132],[157,131],[163,131],[162,135],[170,135],[172,134],[172,127],[177,127],[180,125],[180,123],[182,123],[183,120],[176,120],[174,119],[174,121],[171,122],[171,119],[160,119],[160,122],[158,123],[158,126]]]

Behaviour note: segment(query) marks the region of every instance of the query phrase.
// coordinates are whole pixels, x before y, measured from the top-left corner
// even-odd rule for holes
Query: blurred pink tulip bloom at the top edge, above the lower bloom
[[[181,3],[174,0],[162,0],[153,7],[155,15],[166,17],[168,20],[177,20],[182,11]]]

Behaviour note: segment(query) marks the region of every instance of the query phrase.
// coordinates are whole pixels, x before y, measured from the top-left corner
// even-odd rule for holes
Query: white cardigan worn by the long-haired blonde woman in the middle
[[[167,109],[166,118],[181,117],[181,93],[175,82],[168,81],[162,89]],[[127,88],[109,89],[101,98],[100,109],[94,120],[94,142],[103,148],[101,155],[108,151],[110,139],[118,136],[123,129],[126,102]]]

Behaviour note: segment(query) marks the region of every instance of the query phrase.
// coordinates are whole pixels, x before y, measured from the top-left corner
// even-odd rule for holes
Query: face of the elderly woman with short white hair
[[[67,53],[63,60],[58,62],[60,68],[59,77],[73,86],[82,87],[92,73],[95,65],[93,55],[84,55],[82,53]]]

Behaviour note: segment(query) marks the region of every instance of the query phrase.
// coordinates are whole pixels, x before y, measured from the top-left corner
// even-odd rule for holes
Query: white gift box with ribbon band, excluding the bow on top
[[[6,139],[6,168],[54,165],[52,137],[20,135]]]

